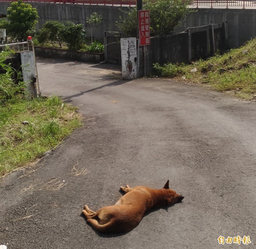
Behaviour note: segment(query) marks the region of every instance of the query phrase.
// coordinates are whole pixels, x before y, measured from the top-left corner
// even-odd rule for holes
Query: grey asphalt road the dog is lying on
[[[255,248],[256,103],[171,80],[123,81],[111,64],[39,59],[38,74],[43,95],[80,107],[84,127],[1,180],[0,244]],[[84,204],[114,204],[121,185],[161,188],[168,179],[183,202],[152,211],[131,232],[102,235],[81,216]],[[220,236],[251,243],[221,245]]]

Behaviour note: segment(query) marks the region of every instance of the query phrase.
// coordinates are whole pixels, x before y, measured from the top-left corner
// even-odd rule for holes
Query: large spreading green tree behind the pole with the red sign
[[[150,12],[150,32],[154,35],[170,34],[183,17],[194,12],[188,8],[190,0],[148,0],[146,9]],[[127,17],[117,23],[121,32],[129,36],[137,36],[137,9],[126,12]]]

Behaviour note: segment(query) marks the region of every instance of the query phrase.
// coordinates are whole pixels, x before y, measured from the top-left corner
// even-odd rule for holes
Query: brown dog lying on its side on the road
[[[120,187],[126,194],[114,205],[106,206],[97,212],[87,205],[82,213],[99,232],[128,232],[134,229],[145,212],[152,208],[168,206],[183,200],[183,196],[169,188],[169,180],[163,188],[153,189],[145,186]]]

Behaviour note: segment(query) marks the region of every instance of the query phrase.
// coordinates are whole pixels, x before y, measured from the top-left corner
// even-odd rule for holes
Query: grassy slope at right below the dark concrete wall
[[[196,72],[191,72],[196,68]],[[214,90],[239,98],[256,98],[256,39],[238,49],[216,54],[189,65],[154,64],[154,74],[192,84],[206,84]]]

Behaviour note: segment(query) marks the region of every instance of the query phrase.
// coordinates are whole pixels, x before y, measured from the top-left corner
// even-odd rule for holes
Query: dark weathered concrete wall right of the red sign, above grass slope
[[[206,58],[226,46],[225,24],[218,23],[194,28],[185,32],[150,38],[150,45],[139,49],[138,76],[153,73],[153,64],[188,63]],[[145,59],[144,59],[145,58]]]

